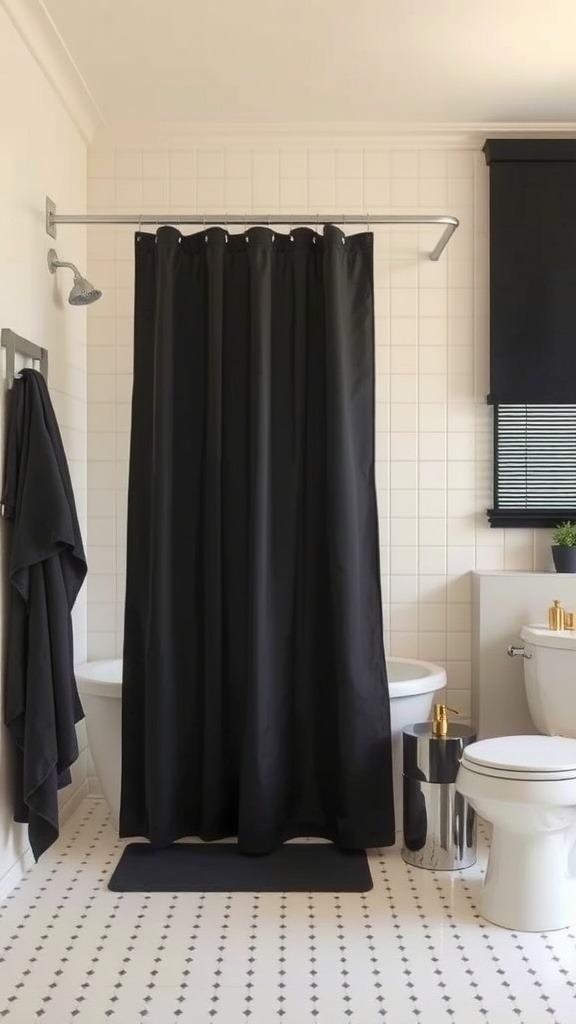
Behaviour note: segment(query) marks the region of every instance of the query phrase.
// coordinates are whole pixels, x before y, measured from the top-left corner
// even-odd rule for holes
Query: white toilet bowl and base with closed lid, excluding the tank
[[[480,912],[547,932],[576,921],[576,739],[500,736],[465,748],[456,788],[493,825]]]

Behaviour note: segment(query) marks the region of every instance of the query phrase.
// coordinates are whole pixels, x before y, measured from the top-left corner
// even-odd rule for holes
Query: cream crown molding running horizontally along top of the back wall
[[[318,146],[352,144],[386,148],[480,150],[486,139],[501,137],[576,138],[576,122],[486,122],[478,124],[338,124],[118,122],[102,125],[93,139],[96,146],[188,147],[201,143],[236,145],[296,144]]]

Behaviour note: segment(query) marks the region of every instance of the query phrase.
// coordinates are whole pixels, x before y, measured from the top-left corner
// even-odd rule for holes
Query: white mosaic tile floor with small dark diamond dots
[[[0,907],[9,1024],[574,1024],[576,928],[484,923],[486,862],[371,854],[358,894],[118,894],[123,843],[87,800]]]

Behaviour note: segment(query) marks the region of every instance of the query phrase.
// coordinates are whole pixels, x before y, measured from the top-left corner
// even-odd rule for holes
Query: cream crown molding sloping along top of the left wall
[[[86,142],[104,123],[102,115],[42,0],[0,0],[38,67],[50,82]]]

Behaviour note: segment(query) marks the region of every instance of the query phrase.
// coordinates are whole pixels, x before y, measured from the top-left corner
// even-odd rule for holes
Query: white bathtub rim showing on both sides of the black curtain
[[[98,678],[98,673],[101,674],[102,671],[106,672],[111,666],[121,665],[121,657],[104,657],[77,665],[75,675],[79,693],[120,699],[122,696],[122,680],[101,679]],[[413,665],[415,671],[419,670],[420,675],[415,676],[414,679],[389,679],[388,690],[390,700],[398,699],[399,697],[416,696],[419,693],[430,693],[434,690],[443,689],[447,684],[446,669],[443,669],[440,665],[435,665],[434,662],[422,662],[415,657],[387,657],[388,671],[395,663],[403,666]]]

